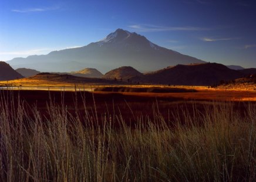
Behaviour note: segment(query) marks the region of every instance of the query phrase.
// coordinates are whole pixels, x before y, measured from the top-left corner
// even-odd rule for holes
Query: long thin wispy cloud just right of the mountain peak
[[[200,31],[210,30],[207,28],[193,26],[156,26],[156,25],[129,25],[130,29],[136,32],[166,32],[166,31]]]

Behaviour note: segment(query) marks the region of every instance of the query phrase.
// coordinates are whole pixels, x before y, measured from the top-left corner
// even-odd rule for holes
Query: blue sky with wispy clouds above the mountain
[[[117,28],[205,61],[256,67],[255,0],[0,0],[0,60],[85,46]]]

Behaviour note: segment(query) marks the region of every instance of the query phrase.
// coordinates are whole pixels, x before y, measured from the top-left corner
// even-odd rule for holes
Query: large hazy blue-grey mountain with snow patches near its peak
[[[204,63],[194,57],[151,43],[137,33],[117,29],[99,42],[84,47],[52,51],[47,55],[15,58],[8,61],[16,67],[39,71],[69,72],[81,67],[95,67],[106,73],[114,67],[133,66],[153,71],[176,64]]]

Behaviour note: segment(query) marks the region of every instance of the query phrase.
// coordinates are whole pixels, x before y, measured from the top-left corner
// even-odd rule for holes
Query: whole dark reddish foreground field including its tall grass
[[[0,181],[255,181],[254,92],[0,92]]]

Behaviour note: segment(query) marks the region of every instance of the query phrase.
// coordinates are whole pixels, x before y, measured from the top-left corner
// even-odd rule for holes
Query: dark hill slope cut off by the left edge
[[[23,78],[21,74],[16,72],[9,64],[4,61],[0,61],[0,80],[15,80],[18,78]]]

